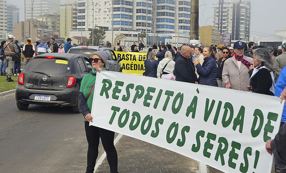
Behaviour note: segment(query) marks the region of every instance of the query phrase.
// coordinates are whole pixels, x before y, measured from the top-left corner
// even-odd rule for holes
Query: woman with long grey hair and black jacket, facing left
[[[249,71],[251,92],[274,96],[274,67],[268,50],[266,48],[255,49],[252,61],[255,68]]]

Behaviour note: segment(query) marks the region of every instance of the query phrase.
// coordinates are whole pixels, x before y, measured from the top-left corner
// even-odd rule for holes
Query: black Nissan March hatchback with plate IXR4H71
[[[29,104],[72,106],[73,112],[82,112],[79,91],[82,78],[91,70],[88,60],[73,53],[44,53],[33,57],[18,77],[17,108],[25,110]]]

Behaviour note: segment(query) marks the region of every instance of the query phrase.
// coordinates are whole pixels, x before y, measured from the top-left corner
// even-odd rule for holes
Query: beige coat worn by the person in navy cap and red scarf
[[[253,64],[252,58],[243,55],[243,58]],[[225,60],[223,65],[222,78],[223,82],[230,82],[231,89],[249,91],[246,85],[249,85],[249,69],[241,63],[240,69],[238,68],[235,56]]]

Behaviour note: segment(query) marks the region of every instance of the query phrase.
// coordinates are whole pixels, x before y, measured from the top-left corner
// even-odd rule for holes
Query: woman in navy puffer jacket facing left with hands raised
[[[212,51],[212,47],[204,47],[202,55],[204,55],[202,65],[200,65],[198,59],[194,58],[193,60],[197,73],[200,76],[198,83],[201,85],[217,86],[217,63],[214,59],[215,53]]]

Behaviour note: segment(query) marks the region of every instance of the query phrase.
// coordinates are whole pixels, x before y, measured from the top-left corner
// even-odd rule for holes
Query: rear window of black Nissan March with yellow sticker
[[[69,73],[70,63],[62,59],[35,58],[28,63],[26,70],[47,74]]]

